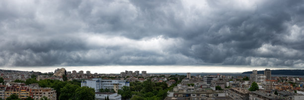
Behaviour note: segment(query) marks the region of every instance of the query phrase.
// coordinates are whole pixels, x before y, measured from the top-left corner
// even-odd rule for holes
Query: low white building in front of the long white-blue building
[[[104,100],[107,97],[109,97],[109,100],[121,100],[121,95],[118,95],[117,93],[95,93],[95,100]]]

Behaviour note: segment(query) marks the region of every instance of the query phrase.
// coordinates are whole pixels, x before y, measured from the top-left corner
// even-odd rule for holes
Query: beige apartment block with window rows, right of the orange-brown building
[[[47,97],[49,100],[57,100],[56,90],[53,88],[32,88],[31,97],[34,100],[40,100]]]

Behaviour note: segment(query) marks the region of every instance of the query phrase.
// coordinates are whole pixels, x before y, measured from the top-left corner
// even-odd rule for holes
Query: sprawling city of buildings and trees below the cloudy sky
[[[0,71],[2,100],[304,100],[304,76]],[[303,71],[303,70],[302,70]],[[85,73],[84,73],[85,72]],[[248,75],[248,76],[247,76]],[[15,99],[14,99],[15,98]]]

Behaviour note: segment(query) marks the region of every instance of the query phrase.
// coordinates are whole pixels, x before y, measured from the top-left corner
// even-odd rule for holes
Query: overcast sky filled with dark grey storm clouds
[[[303,18],[303,0],[3,0],[0,67],[304,69]]]

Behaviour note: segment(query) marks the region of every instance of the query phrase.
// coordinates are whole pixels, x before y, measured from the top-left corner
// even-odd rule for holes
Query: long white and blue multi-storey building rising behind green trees
[[[126,80],[103,80],[101,78],[93,78],[92,80],[81,81],[81,87],[87,86],[94,88],[95,92],[99,92],[99,89],[114,89],[118,92],[123,86],[130,86],[130,82]]]

